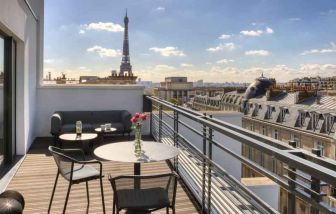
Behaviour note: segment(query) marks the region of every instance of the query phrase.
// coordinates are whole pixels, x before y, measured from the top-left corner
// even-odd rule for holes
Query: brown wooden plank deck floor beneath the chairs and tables
[[[120,140],[120,139],[114,139]],[[47,152],[50,140],[39,140],[29,150],[25,160],[7,189],[17,190],[23,194],[26,206],[24,213],[47,213],[49,200],[56,176],[55,162]],[[70,147],[70,145],[64,145]],[[166,162],[146,163],[141,165],[142,174],[158,174],[169,172]],[[112,188],[107,179],[112,176],[133,174],[133,164],[103,162],[104,195],[107,213],[112,213]],[[56,188],[51,213],[61,213],[64,205],[68,183],[62,178]],[[100,197],[99,181],[89,182],[90,206],[87,209],[85,183],[74,185],[67,206],[67,213],[103,213]],[[198,213],[192,199],[183,185],[178,184],[176,197],[177,213]],[[155,213],[165,213],[165,209]]]

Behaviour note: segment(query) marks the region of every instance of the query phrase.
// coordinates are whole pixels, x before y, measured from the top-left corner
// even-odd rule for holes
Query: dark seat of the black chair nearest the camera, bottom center
[[[169,206],[167,191],[164,188],[123,189],[117,191],[121,209],[149,210]]]

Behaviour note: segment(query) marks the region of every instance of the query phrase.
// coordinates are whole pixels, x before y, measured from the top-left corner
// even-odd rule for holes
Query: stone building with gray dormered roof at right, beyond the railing
[[[266,95],[265,95],[266,96]],[[295,141],[301,151],[319,151],[323,158],[335,160],[336,153],[336,97],[308,97],[298,101],[296,93],[285,93],[276,97],[265,96],[249,99],[244,108],[242,127],[261,135],[282,141],[288,145]],[[249,146],[242,146],[244,156],[280,176],[288,176],[286,165],[274,161],[270,155],[262,154]],[[242,177],[261,175],[242,164]],[[321,186],[326,193],[322,200],[336,206],[335,187]],[[280,189],[279,208],[286,213],[287,192]],[[297,213],[310,213],[308,204],[297,199]]]

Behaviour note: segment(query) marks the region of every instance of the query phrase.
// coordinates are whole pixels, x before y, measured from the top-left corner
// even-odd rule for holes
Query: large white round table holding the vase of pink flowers
[[[168,160],[176,157],[176,147],[154,141],[142,141],[143,154],[137,157],[134,153],[134,141],[110,143],[94,150],[94,154],[104,160],[134,163],[134,175],[140,175],[140,163]]]

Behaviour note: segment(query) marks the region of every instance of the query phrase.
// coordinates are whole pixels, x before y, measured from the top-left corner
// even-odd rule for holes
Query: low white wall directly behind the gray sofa
[[[128,110],[131,114],[141,112],[143,91],[143,86],[135,85],[38,88],[34,136],[50,136],[50,117],[55,111]]]

